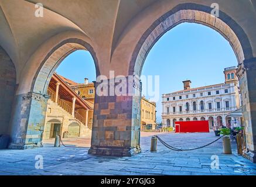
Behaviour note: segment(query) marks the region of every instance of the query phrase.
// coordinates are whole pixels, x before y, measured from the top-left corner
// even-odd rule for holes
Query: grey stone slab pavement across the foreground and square
[[[237,155],[235,143],[232,155],[222,154],[221,139],[212,146],[186,152],[168,150],[158,142],[158,152],[151,153],[152,133],[148,135],[142,133],[142,153],[133,157],[88,155],[89,147],[52,144],[29,150],[0,150],[0,175],[256,175],[256,164]],[[158,136],[178,148],[194,148],[216,139],[213,132]],[[70,142],[73,144],[74,139]],[[88,140],[85,142],[88,144]],[[43,169],[35,168],[36,155],[43,156]],[[211,169],[212,155],[219,157],[219,169]]]

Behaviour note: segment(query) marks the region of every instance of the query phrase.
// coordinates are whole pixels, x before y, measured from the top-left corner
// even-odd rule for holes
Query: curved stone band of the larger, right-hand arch
[[[243,63],[244,59],[252,58],[251,44],[242,27],[224,12],[220,11],[219,18],[211,16],[210,12],[209,6],[187,3],[176,6],[158,18],[136,44],[129,63],[128,74],[140,76],[146,56],[156,41],[183,22],[200,23],[219,32],[229,41],[238,64]]]

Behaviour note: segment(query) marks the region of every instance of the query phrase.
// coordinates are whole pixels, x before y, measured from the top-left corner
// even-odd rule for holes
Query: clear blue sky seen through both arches
[[[224,68],[235,65],[234,51],[223,36],[207,26],[182,23],[156,42],[146,57],[142,75],[159,75],[162,95],[182,90],[186,79],[192,81],[192,88],[224,82]],[[94,81],[93,58],[88,51],[75,51],[64,59],[57,73],[76,82],[83,82],[85,77]],[[149,98],[145,90],[142,95]],[[158,122],[161,95],[156,103]]]

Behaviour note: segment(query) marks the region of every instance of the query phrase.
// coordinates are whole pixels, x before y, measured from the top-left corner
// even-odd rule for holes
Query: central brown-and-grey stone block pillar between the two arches
[[[88,154],[131,156],[141,152],[141,82],[139,79],[126,79],[124,84],[128,84],[128,90],[124,95],[108,93],[100,96],[97,88],[101,84],[94,82],[94,119]],[[110,92],[111,82],[108,80],[106,85]],[[117,86],[115,84],[116,89]]]

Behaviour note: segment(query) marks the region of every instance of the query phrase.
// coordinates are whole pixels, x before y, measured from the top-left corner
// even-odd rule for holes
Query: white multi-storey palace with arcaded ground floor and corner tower
[[[225,82],[190,88],[190,80],[183,81],[184,89],[162,95],[162,122],[175,127],[176,121],[209,120],[214,125],[230,126],[229,113],[240,108],[240,95],[236,67],[224,69]],[[237,122],[240,123],[240,122]]]

